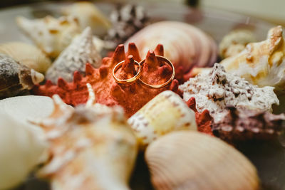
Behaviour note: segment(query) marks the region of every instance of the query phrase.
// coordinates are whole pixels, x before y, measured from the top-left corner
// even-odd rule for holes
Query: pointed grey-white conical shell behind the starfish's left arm
[[[94,68],[99,68],[101,62],[100,54],[96,51],[92,40],[91,28],[87,27],[58,56],[51,68],[48,68],[46,79],[56,83],[61,77],[67,82],[71,82],[76,70],[85,74],[86,63],[90,63]]]

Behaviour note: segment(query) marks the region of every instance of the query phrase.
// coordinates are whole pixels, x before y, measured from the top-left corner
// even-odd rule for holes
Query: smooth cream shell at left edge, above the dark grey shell
[[[51,60],[41,50],[35,46],[22,43],[10,42],[0,45],[0,53],[4,53],[28,68],[46,73],[51,66]]]

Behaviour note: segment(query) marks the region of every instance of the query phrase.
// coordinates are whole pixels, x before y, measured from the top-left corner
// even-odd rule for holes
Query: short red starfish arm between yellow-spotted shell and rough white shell
[[[208,110],[204,110],[203,112],[198,112],[196,109],[196,100],[195,97],[191,97],[188,101],[187,101],[187,105],[188,107],[190,107],[193,111],[195,111],[195,119],[196,119],[196,123],[198,126],[198,131],[199,132],[204,132],[207,133],[209,135],[214,136],[214,134],[212,133],[212,117],[209,115],[209,111]]]

